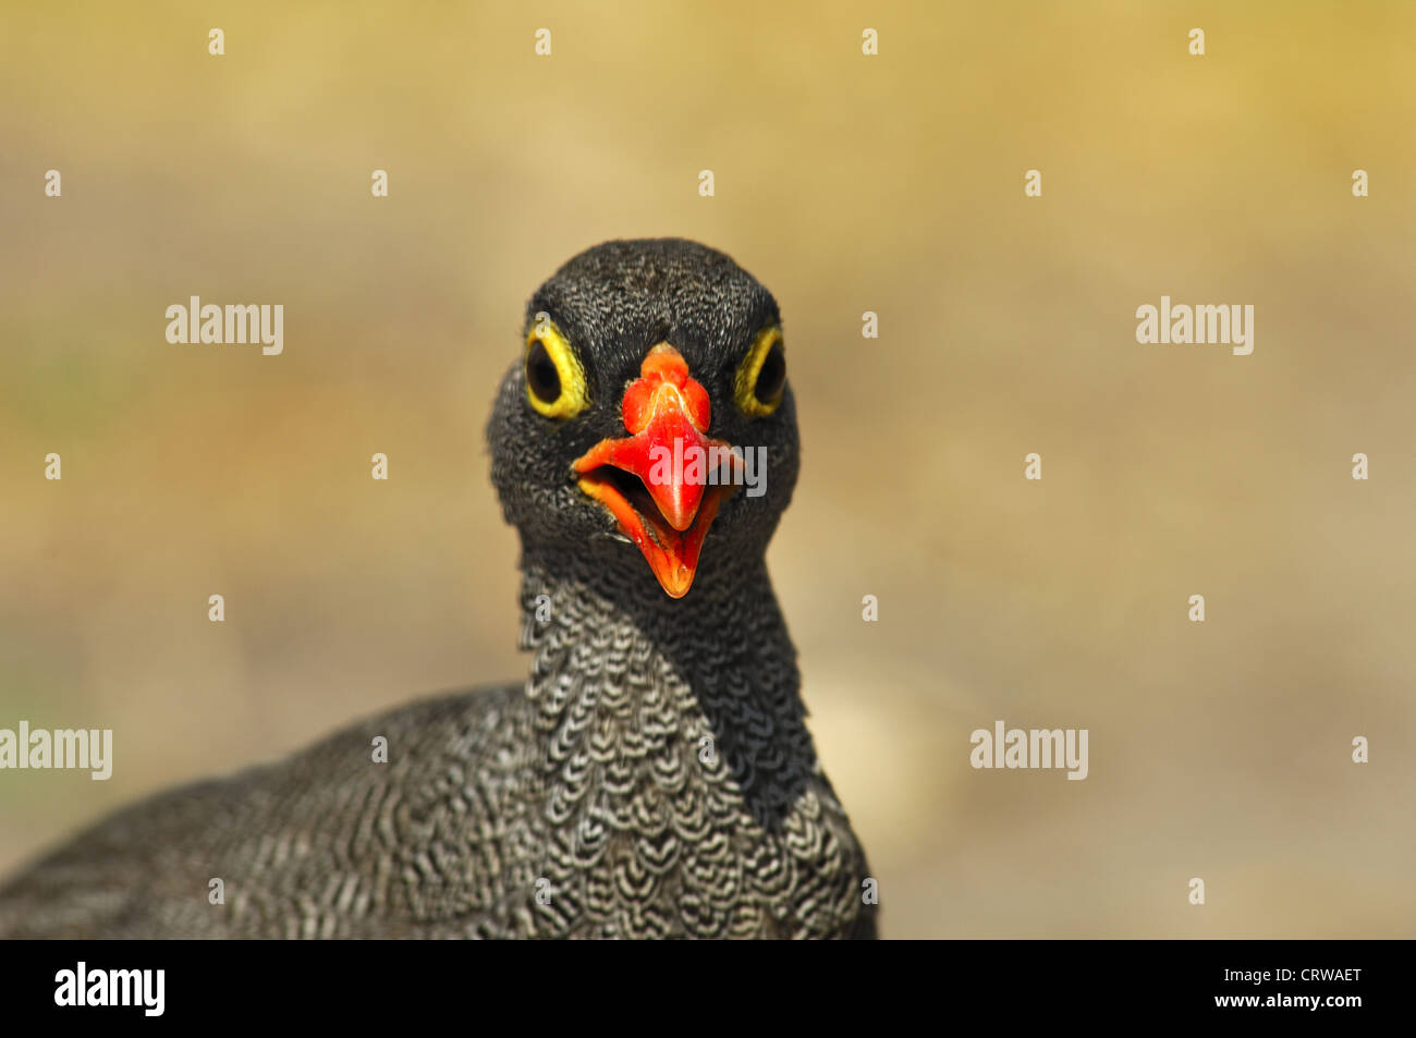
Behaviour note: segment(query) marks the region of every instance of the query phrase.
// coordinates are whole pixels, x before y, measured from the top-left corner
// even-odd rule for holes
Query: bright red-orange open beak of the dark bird
[[[649,561],[670,598],[683,598],[741,459],[725,440],[704,436],[708,391],[668,343],[644,357],[624,389],[629,436],[603,439],[571,467],[579,487],[603,504]]]

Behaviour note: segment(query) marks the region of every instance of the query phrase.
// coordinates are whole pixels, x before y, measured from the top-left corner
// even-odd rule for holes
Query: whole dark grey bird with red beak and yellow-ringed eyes
[[[772,293],[681,238],[575,255],[487,445],[525,680],[120,810],[0,888],[0,936],[877,936],[765,558],[800,463]]]

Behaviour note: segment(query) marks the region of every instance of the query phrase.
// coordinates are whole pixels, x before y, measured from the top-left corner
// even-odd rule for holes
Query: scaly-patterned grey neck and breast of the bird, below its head
[[[551,848],[538,929],[857,932],[864,855],[817,763],[766,568],[704,574],[668,600],[617,583],[633,571],[581,565],[523,558],[541,743],[528,813]]]

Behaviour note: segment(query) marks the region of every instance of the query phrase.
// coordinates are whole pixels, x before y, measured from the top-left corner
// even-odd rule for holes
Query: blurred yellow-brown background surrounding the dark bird
[[[1416,935],[1416,7],[0,23],[0,726],[116,758],[0,775],[0,871],[523,675],[483,446],[523,307],[683,235],[782,304],[804,460],[769,558],[885,936]],[[169,344],[193,295],[283,303],[285,354]],[[1253,355],[1137,344],[1161,295],[1252,303]],[[973,770],[995,719],[1087,728],[1090,776]]]

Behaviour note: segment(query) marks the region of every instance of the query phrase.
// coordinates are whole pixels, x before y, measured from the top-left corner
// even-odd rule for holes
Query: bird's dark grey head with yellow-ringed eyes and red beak
[[[797,476],[776,300],[694,242],[588,249],[531,297],[487,435],[527,548],[675,599],[759,565]]]

